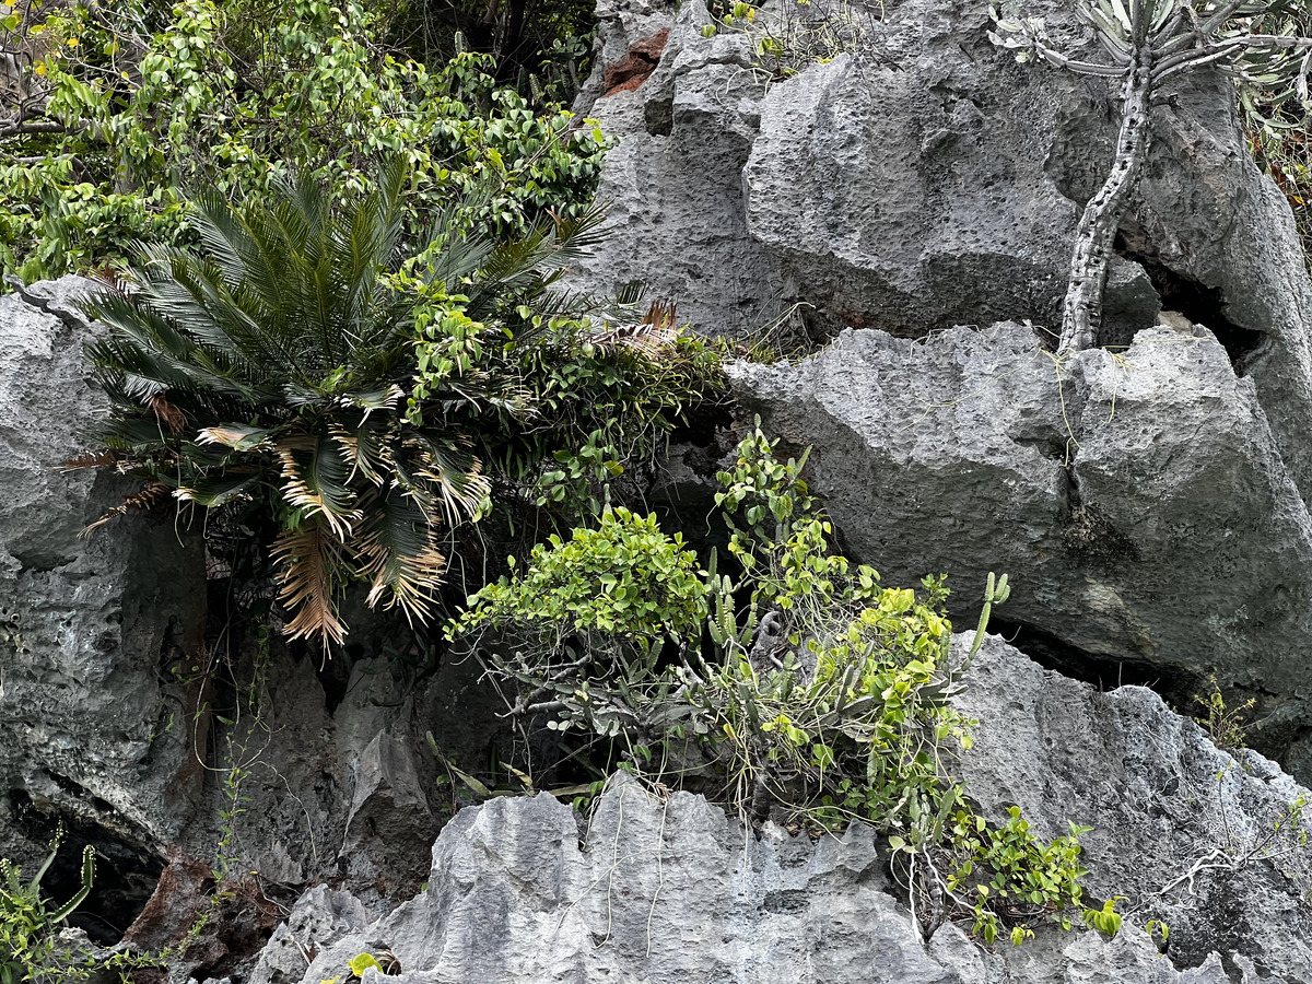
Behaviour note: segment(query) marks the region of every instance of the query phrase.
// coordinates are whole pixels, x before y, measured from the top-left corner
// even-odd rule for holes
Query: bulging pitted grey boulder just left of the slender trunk
[[[904,5],[887,60],[837,58],[761,105],[748,228],[836,327],[1055,323],[1077,218],[1043,176],[1055,93],[997,64],[987,10],[947,7]]]

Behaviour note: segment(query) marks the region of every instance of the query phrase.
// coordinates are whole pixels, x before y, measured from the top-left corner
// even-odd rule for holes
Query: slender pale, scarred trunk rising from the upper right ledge
[[[1144,46],[1130,67],[1122,91],[1124,105],[1115,163],[1102,188],[1085,206],[1076,230],[1057,352],[1092,348],[1102,325],[1102,294],[1107,287],[1111,248],[1147,154],[1151,93],[1152,55]]]

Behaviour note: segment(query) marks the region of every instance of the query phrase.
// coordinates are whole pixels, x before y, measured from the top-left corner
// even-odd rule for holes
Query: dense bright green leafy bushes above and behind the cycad
[[[3,8],[14,10],[13,7]],[[356,0],[121,0],[0,20],[20,77],[0,91],[0,268],[25,279],[114,266],[135,240],[186,239],[186,189],[234,199],[294,172],[365,193],[411,164],[412,231],[461,193],[462,219],[523,234],[573,215],[606,142],[499,88],[488,56],[426,68]]]

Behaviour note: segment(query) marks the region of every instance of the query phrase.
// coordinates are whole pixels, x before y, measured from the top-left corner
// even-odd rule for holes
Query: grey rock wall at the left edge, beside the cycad
[[[185,694],[164,674],[205,627],[197,544],[138,514],[84,538],[134,487],[59,470],[104,412],[83,363],[93,329],[70,306],[87,286],[41,285],[49,311],[0,298],[0,854],[22,859],[45,854],[24,840],[29,806],[138,848],[169,840],[199,769],[168,727]]]

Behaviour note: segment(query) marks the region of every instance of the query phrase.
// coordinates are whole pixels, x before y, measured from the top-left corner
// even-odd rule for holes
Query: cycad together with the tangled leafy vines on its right
[[[396,159],[348,209],[312,178],[239,210],[201,195],[199,247],[143,248],[130,289],[87,304],[113,401],[112,454],[87,463],[146,478],[135,504],[273,520],[293,638],[344,639],[350,579],[428,621],[450,531],[492,506],[488,468],[565,500],[544,462],[623,471],[718,390],[714,354],[668,323],[594,327],[594,302],[554,290],[596,213],[495,241],[449,210],[407,257],[407,176]]]

